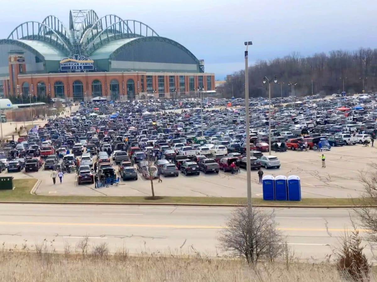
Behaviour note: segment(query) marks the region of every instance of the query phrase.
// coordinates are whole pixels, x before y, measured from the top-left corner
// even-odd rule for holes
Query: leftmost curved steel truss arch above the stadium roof
[[[25,27],[25,29],[24,29]],[[26,33],[24,33],[26,32]],[[32,33],[30,33],[32,32]],[[56,39],[52,35],[55,35]],[[25,39],[25,40],[40,40],[55,44],[61,50],[66,50],[69,53],[69,45],[58,35],[58,33],[51,29],[46,24],[38,21],[26,21],[21,23],[9,34],[7,39]]]

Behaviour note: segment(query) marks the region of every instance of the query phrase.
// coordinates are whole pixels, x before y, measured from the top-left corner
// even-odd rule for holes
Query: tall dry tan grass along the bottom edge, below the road
[[[0,281],[18,282],[149,282],[149,281],[340,281],[330,264],[259,263],[230,259],[43,255],[5,252],[0,255]]]

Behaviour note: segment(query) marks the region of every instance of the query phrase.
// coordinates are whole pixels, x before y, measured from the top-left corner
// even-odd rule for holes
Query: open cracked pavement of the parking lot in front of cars
[[[264,153],[265,155],[268,152]],[[374,147],[362,147],[360,144],[333,147],[324,152],[326,168],[321,167],[319,152],[288,151],[272,153],[282,165],[279,169],[263,169],[264,176],[298,175],[301,178],[302,197],[305,198],[346,198],[357,197],[363,186],[359,182],[359,173],[368,167],[377,156]],[[113,166],[118,171],[118,166]],[[8,174],[5,172],[5,174]],[[48,196],[149,196],[150,180],[140,173],[138,180],[120,180],[118,186],[95,189],[94,185],[78,185],[75,173],[64,174],[63,184],[52,184],[51,171],[41,169],[38,173],[10,173],[15,179],[35,177],[41,180],[36,193]],[[4,172],[3,175],[4,176]],[[204,174],[199,176],[163,177],[162,183],[154,180],[154,190],[159,196],[198,196],[198,197],[246,197],[246,171],[240,174],[230,172]],[[262,185],[258,183],[257,171],[251,171],[253,197],[262,197]]]

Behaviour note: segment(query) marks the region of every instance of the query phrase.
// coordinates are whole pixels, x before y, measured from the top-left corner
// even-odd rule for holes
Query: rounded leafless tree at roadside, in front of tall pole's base
[[[240,207],[227,221],[227,228],[220,232],[220,246],[234,256],[244,257],[248,263],[259,259],[273,261],[281,254],[281,234],[276,229],[273,214],[261,209]]]

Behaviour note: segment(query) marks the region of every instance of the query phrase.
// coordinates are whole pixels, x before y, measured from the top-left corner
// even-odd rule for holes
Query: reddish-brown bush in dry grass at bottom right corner
[[[341,241],[341,249],[336,254],[336,267],[340,276],[352,281],[369,281],[369,264],[363,254],[364,247],[361,246],[359,230],[345,232]]]

